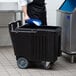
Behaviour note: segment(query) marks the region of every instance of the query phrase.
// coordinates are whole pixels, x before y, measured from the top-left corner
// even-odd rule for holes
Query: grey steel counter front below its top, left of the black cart
[[[23,21],[23,13],[21,10],[0,10],[0,46],[12,45],[8,24],[16,20]]]

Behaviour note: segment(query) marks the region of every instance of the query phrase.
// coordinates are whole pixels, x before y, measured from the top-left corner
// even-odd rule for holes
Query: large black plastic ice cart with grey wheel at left
[[[24,69],[29,61],[54,63],[61,55],[61,28],[21,25],[21,21],[9,24],[18,66]]]

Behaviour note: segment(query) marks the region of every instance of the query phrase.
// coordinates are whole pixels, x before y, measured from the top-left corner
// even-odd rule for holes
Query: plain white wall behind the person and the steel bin
[[[0,0],[0,2],[18,2],[18,1],[19,0]],[[48,25],[56,25],[56,10],[61,6],[64,0],[45,0],[45,1],[47,7]]]

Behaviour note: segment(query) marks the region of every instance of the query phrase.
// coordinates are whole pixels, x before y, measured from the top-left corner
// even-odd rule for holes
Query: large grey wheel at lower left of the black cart
[[[28,67],[28,65],[29,65],[29,62],[28,62],[28,60],[26,58],[20,57],[17,60],[17,65],[18,65],[18,67],[20,69],[26,69]]]

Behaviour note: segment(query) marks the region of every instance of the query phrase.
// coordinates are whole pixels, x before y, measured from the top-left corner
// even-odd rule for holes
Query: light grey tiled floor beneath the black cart
[[[71,64],[63,54],[50,70],[39,68],[19,69],[11,47],[0,48],[0,76],[76,76],[76,63]]]

